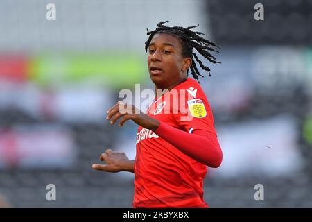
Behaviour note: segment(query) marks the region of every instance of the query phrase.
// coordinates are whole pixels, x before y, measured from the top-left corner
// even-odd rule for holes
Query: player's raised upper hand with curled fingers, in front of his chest
[[[159,121],[153,119],[147,114],[141,113],[141,111],[135,108],[134,105],[123,104],[121,101],[118,101],[116,105],[107,111],[106,119],[112,119],[110,123],[114,124],[121,117],[122,119],[119,122],[119,126],[123,126],[123,123],[129,119],[137,123],[139,126],[152,131],[157,130],[159,126]]]

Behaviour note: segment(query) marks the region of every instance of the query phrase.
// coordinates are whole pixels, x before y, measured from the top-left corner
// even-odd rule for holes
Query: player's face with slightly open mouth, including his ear
[[[157,89],[172,89],[187,78],[191,58],[183,58],[177,37],[160,33],[154,35],[148,47],[148,71]]]

